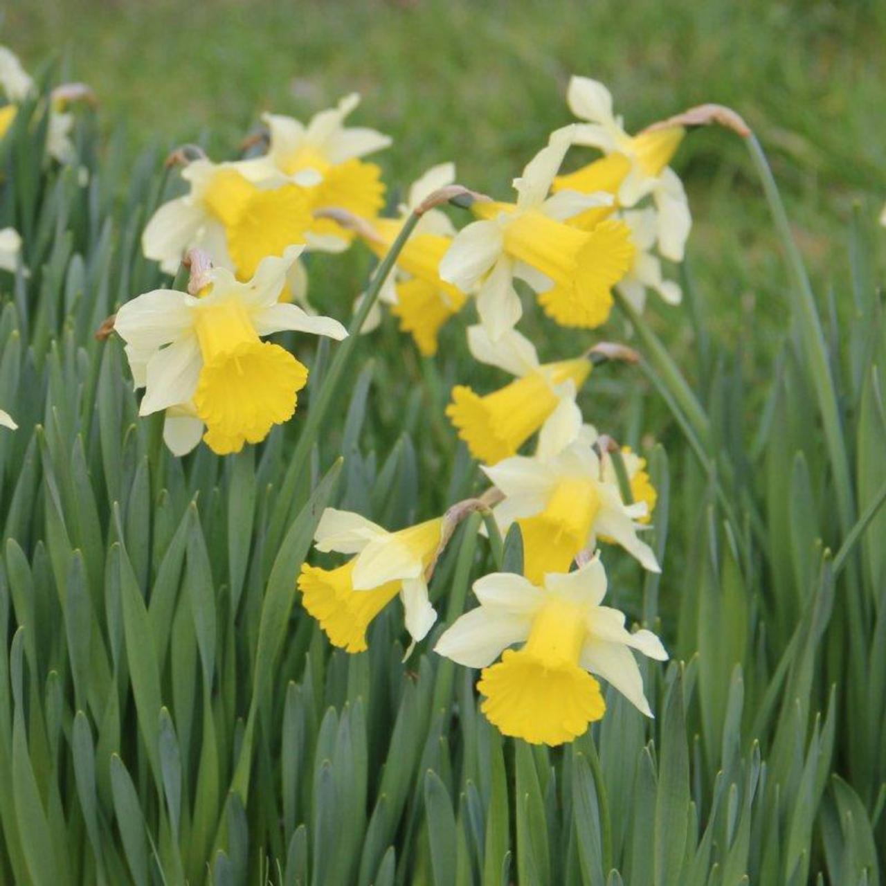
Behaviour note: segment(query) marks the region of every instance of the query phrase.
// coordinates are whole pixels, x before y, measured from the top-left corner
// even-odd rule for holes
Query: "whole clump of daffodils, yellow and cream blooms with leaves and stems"
[[[573,76],[486,194],[351,94],[123,186],[50,74],[0,47],[0,886],[878,882],[875,263],[825,335],[737,114]],[[752,451],[709,123],[791,271]]]

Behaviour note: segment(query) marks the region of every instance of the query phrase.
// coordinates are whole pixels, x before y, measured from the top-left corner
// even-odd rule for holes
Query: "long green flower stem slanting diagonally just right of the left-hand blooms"
[[[279,546],[286,524],[289,522],[289,517],[297,506],[297,502],[293,501],[295,490],[299,486],[299,481],[304,471],[308,468],[311,449],[314,447],[317,435],[320,433],[323,419],[329,412],[335,395],[338,393],[339,380],[344,374],[352,354],[354,354],[354,347],[356,347],[357,338],[359,338],[363,323],[366,321],[372,306],[376,303],[382,285],[392,272],[403,246],[406,244],[409,235],[415,229],[420,218],[421,216],[415,213],[409,215],[403,227],[400,228],[400,233],[393,241],[385,258],[377,265],[375,273],[369,281],[366,295],[363,297],[360,307],[351,320],[351,325],[347,330],[347,338],[338,346],[336,355],[323,376],[323,384],[320,385],[319,390],[311,398],[305,427],[301,431],[299,442],[296,444],[295,452],[286,469],[284,481],[282,486],[280,486],[280,492],[277,495],[271,515],[269,543],[272,550],[276,550]]]

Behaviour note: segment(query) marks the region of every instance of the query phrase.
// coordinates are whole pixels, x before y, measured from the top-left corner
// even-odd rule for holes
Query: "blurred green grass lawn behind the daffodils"
[[[394,136],[380,157],[394,188],[454,159],[463,183],[507,194],[570,120],[572,73],[608,83],[632,129],[731,105],[771,154],[822,293],[848,277],[853,204],[873,228],[886,198],[882,2],[12,0],[0,41],[89,82],[105,125],[127,120],[133,157],[200,140],[221,159],[261,111],[307,116],[359,90],[353,120]],[[711,332],[771,354],[784,276],[742,144],[699,131],[675,166]]]

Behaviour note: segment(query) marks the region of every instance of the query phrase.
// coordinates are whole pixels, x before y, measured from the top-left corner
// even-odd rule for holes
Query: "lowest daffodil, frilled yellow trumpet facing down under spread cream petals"
[[[480,605],[440,636],[435,651],[483,668],[481,710],[501,733],[532,744],[578,738],[606,711],[591,674],[652,716],[631,650],[658,661],[667,652],[654,633],[630,633],[622,612],[601,605],[606,573],[598,558],[538,582],[496,572],[474,582],[474,594]]]

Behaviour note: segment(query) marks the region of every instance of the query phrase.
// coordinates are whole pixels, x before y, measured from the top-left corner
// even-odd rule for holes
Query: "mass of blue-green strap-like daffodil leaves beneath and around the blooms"
[[[839,290],[851,323],[819,299],[848,488],[788,293],[762,410],[691,286],[669,322],[694,324],[696,366],[637,318],[641,369],[595,373],[630,404],[607,430],[664,443],[649,454],[664,577],[622,561],[613,585],[673,660],[643,664],[655,720],[610,692],[600,723],[549,750],[489,726],[436,632],[404,662],[392,609],[348,656],[295,592],[324,506],[397,528],[480,488],[439,414],[475,371],[457,330],[436,363],[390,320],[382,346],[358,341],[294,471],[341,346],[287,340],[312,369],[293,421],[236,456],[176,459],[157,416],[137,417],[120,341],[93,336],[161,282],[138,241],[171,174],[99,150],[84,115],[83,183],[41,161],[45,127],[30,103],[0,144],[0,227],[21,231],[30,271],[0,272],[0,408],[19,423],[0,429],[0,883],[880,882],[886,324],[863,225]],[[498,565],[480,525],[435,573],[443,623]],[[504,568],[521,559],[509,535]]]

